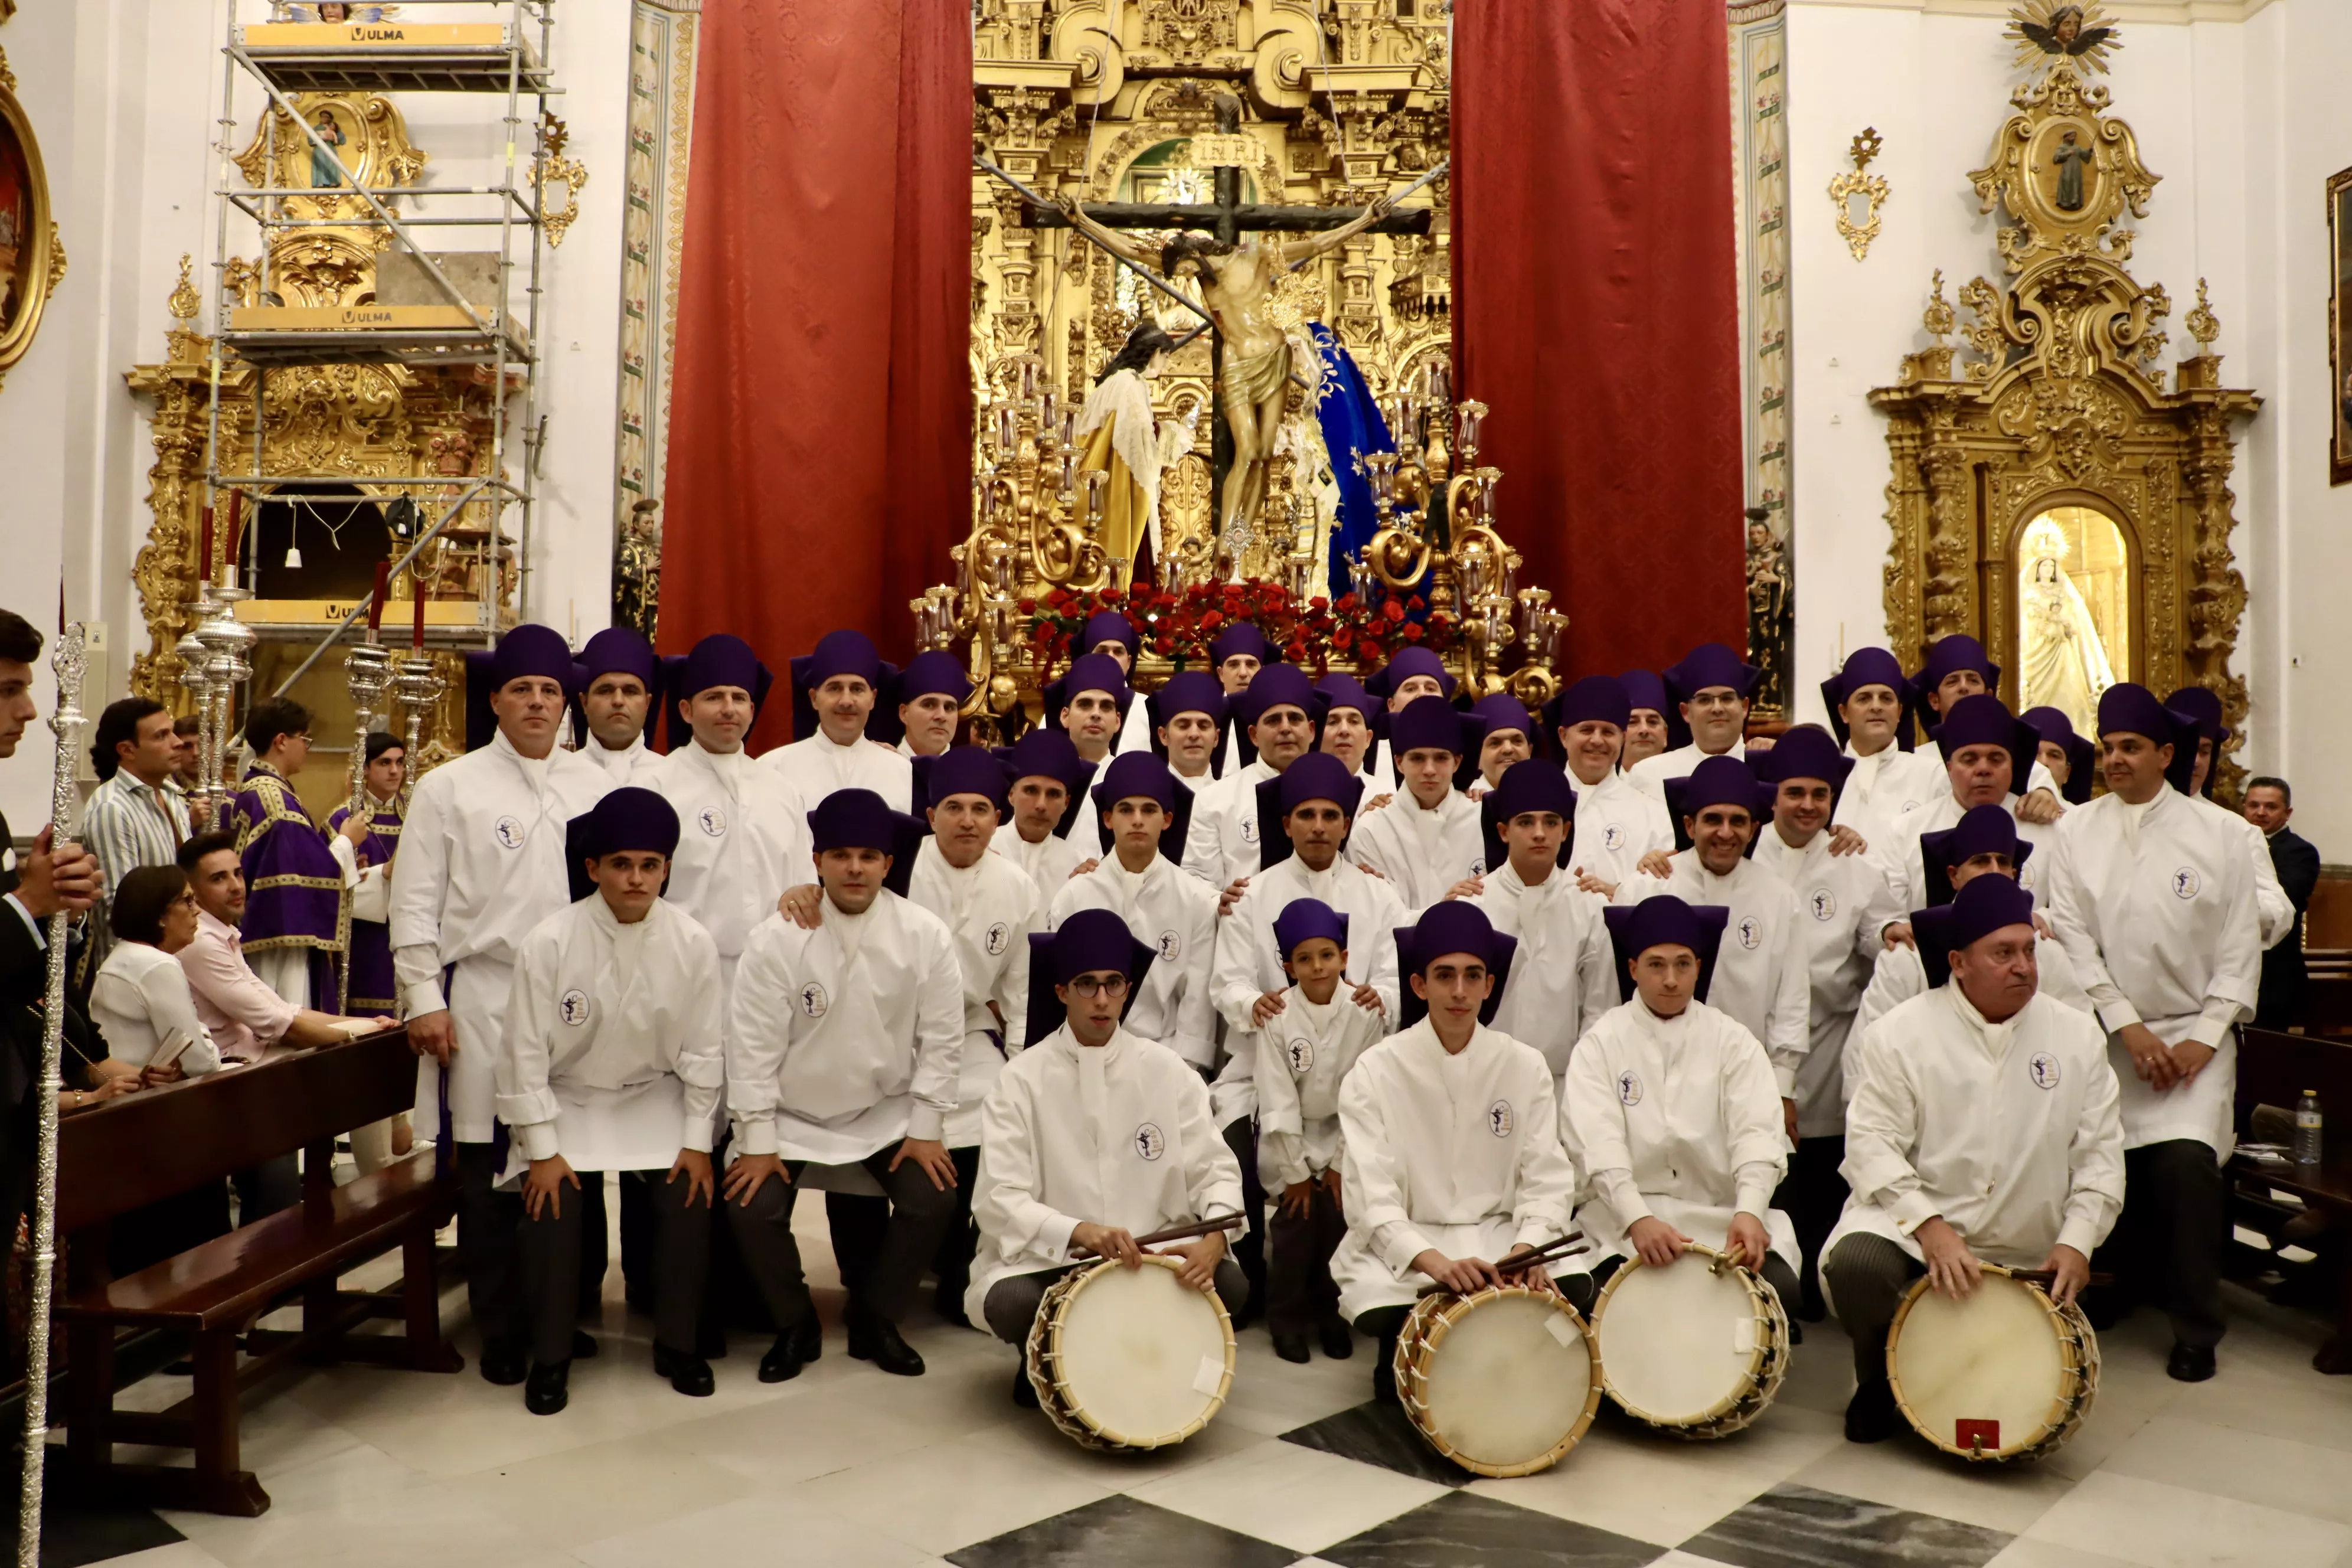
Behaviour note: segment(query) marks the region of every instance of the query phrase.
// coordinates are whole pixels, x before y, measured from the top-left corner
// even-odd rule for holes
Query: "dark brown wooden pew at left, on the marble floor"
[[[336,1135],[402,1112],[414,1098],[407,1030],[386,1030],[143,1088],[59,1124],[56,1229],[66,1239],[66,1279],[56,1319],[71,1368],[59,1467],[66,1493],[254,1516],[270,1497],[238,1465],[240,1389],[287,1361],[463,1368],[440,1338],[433,1279],[433,1232],[456,1208],[454,1175],[435,1168],[433,1150],[419,1150],[346,1187],[332,1180]],[[125,1279],[108,1276],[108,1220],[294,1150],[306,1166],[299,1206]],[[339,1274],[395,1248],[397,1291],[336,1288]],[[294,1293],[299,1331],[252,1328]],[[407,1333],[350,1333],[381,1316],[400,1319]],[[113,1349],[122,1328],[188,1333],[193,1394],[162,1413],[115,1410]],[[242,1366],[240,1335],[252,1352]],[[115,1443],[193,1448],[195,1465],[118,1465]]]

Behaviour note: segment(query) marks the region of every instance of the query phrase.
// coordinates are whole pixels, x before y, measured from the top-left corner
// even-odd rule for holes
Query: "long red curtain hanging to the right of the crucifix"
[[[1562,672],[1745,644],[1722,0],[1458,0],[1458,395]]]

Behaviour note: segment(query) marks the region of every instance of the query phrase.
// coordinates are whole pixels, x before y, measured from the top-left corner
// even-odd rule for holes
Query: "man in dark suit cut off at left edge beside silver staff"
[[[0,609],[0,757],[14,757],[24,731],[40,717],[33,705],[33,663],[40,658],[40,632],[24,616]],[[7,818],[0,818],[0,849],[7,849],[0,863],[0,905],[5,905],[0,907],[0,1225],[12,1237],[33,1190],[40,1006],[49,980],[47,922],[59,910],[80,914],[96,903],[99,863],[80,844],[52,844],[49,827],[42,827],[31,851],[19,856]],[[103,1056],[71,999],[66,1037],[80,1046],[85,1060]]]

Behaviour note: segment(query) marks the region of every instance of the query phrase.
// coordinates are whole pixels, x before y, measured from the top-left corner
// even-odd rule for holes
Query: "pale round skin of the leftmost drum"
[[[1174,1443],[1209,1420],[1232,1378],[1232,1328],[1176,1265],[1098,1267],[1051,1335],[1054,1380],[1082,1425],[1115,1443]]]

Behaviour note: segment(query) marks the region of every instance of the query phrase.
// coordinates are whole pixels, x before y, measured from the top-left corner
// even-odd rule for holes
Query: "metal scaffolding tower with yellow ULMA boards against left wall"
[[[475,604],[470,618],[435,616],[426,623],[426,642],[440,649],[477,649],[496,644],[513,621],[501,611],[503,562],[513,559],[513,604],[524,604],[532,569],[532,522],[539,473],[539,313],[546,292],[546,223],[543,181],[548,179],[550,148],[543,127],[548,125],[550,99],[560,94],[550,73],[550,42],[555,28],[555,0],[405,0],[400,21],[386,24],[329,24],[287,21],[280,5],[273,5],[270,21],[240,24],[238,7],[230,5],[228,38],[223,42],[221,68],[221,120],[219,120],[219,237],[214,254],[214,308],[216,329],[212,334],[212,414],[205,451],[207,501],[223,491],[242,496],[245,515],[254,520],[256,548],[235,564],[242,574],[238,583],[247,597],[259,583],[259,505],[263,496],[318,494],[320,487],[348,487],[379,503],[390,501],[393,510],[409,520],[405,545],[390,564],[390,576],[412,571],[412,592],[423,597],[426,550],[445,534],[456,538],[459,520],[468,508],[480,508],[487,517],[480,559],[475,562]],[[477,21],[482,14],[499,21]],[[437,16],[473,16],[473,21],[440,21]],[[381,92],[381,94],[482,94],[506,99],[503,115],[503,165],[496,183],[487,186],[369,186],[360,169],[343,169],[334,195],[358,197],[360,212],[348,216],[296,216],[289,207],[296,197],[320,197],[318,186],[240,186],[235,169],[238,134],[238,87],[249,82],[263,94],[261,136],[263,169],[270,179],[285,179],[278,165],[275,143],[280,134],[275,115],[292,122],[313,158],[341,162],[334,146],[320,136],[301,108],[299,92]],[[407,205],[409,212],[395,212]],[[235,214],[249,219],[261,233],[261,259],[245,270],[230,261],[230,226]],[[306,228],[374,228],[381,230],[376,261],[405,256],[416,273],[416,282],[428,284],[437,303],[402,306],[287,306],[273,289],[273,240]],[[494,289],[468,294],[445,270],[442,261],[426,249],[419,235],[454,233],[485,235],[496,230],[496,280]],[[517,301],[515,273],[522,270]],[[379,270],[381,277],[381,270]],[[245,303],[245,296],[252,303]],[[517,308],[520,306],[520,308]],[[252,473],[226,473],[221,442],[221,376],[223,367],[242,362],[256,378],[252,397]],[[263,425],[268,418],[268,376],[292,367],[318,364],[405,364],[466,367],[487,371],[489,386],[489,442],[487,454],[468,461],[470,473],[414,473],[414,475],[367,475],[358,480],[339,470],[270,470],[263,454]],[[520,404],[520,414],[510,407]],[[520,463],[508,477],[510,437],[520,435]],[[397,505],[412,501],[412,508]],[[513,529],[508,529],[513,522]],[[510,541],[510,543],[508,543]],[[445,604],[454,604],[445,602]],[[270,625],[249,618],[254,607],[240,607],[249,630],[273,642],[306,642],[318,635],[318,623]],[[280,684],[285,693],[303,677],[339,639],[367,618],[367,602],[360,599],[343,614],[318,646],[310,649]]]

